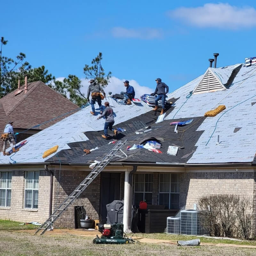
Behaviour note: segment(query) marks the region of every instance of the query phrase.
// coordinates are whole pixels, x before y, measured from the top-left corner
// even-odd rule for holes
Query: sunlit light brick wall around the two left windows
[[[44,222],[49,217],[50,175],[48,172],[40,171],[38,209],[24,209],[24,194],[25,172],[12,171],[11,207],[0,207],[0,219]]]

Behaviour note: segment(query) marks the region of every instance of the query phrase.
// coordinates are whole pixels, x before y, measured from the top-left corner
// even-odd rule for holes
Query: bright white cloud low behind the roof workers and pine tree
[[[108,95],[108,92],[112,92],[112,94],[120,93],[121,91],[125,92],[126,89],[124,87],[123,82],[126,79],[119,79],[115,76],[112,76],[109,80],[110,80],[110,83],[108,83],[107,87],[104,88],[104,91],[106,92],[107,95]],[[89,83],[88,83],[89,80],[81,79],[81,81],[82,81],[82,85],[83,85],[81,91],[85,94],[85,96],[87,96],[87,89],[88,89],[88,86],[89,86]],[[141,86],[135,80],[129,80],[129,84],[134,87],[135,98],[140,98],[140,96],[143,95],[144,93],[154,92],[153,89],[151,89],[147,86]]]

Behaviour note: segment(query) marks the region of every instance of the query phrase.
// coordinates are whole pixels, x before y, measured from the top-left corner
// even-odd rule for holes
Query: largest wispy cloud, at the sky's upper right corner
[[[239,29],[256,26],[253,7],[236,7],[229,4],[204,4],[200,7],[180,7],[168,12],[169,16],[201,28]]]

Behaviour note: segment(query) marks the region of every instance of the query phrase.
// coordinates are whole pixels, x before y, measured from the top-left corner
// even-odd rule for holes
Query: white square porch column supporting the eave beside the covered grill
[[[132,184],[129,183],[130,172],[125,172],[124,176],[124,232],[131,233],[131,195]]]

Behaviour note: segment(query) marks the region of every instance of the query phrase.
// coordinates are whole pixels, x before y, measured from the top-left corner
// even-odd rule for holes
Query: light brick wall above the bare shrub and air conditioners
[[[254,201],[253,172],[187,172],[180,174],[180,206],[193,209],[203,195],[235,194]]]

